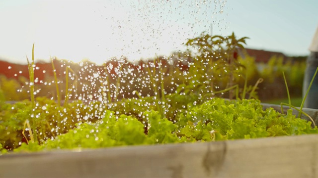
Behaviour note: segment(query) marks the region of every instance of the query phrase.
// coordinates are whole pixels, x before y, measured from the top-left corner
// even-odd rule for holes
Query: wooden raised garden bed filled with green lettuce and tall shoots
[[[229,38],[219,38],[226,41],[236,37],[233,33]],[[238,42],[245,43],[244,39]],[[193,40],[187,44],[191,45]],[[211,66],[246,69],[234,58],[235,46],[227,50],[226,54],[231,55],[223,58],[228,61],[221,60]],[[117,90],[121,80],[118,77],[116,92],[111,94],[109,86],[101,86],[99,94],[103,97],[98,102],[68,102],[70,93],[66,82],[66,101],[62,106],[56,73],[57,102],[35,98],[34,85],[30,85],[30,102],[2,108],[0,131],[4,155],[0,156],[0,178],[316,177],[318,134],[313,133],[318,133],[317,127],[297,119],[291,111],[286,114],[287,107],[285,114],[280,114],[276,112],[280,106],[262,106],[258,100],[246,100],[256,96],[254,91],[261,79],[253,87],[247,87],[245,79],[243,89],[239,89],[239,85],[233,84],[232,72],[235,71],[232,71],[227,79],[231,81],[229,87],[214,91],[213,83],[223,83],[212,77],[220,71],[200,74],[201,69],[206,68],[202,57],[197,56],[186,74],[179,73],[185,77],[184,83],[169,94],[165,92],[164,72],[156,67],[156,59],[154,67],[148,65],[145,70],[149,79],[146,87],[155,91],[154,96],[144,97],[134,90],[132,94],[137,97],[119,100]],[[34,84],[33,49],[32,63],[28,66],[30,83]],[[53,61],[52,67],[55,71]],[[66,72],[66,81],[68,74]],[[186,77],[188,75],[192,77]],[[108,84],[109,78],[100,81]],[[107,89],[108,92],[104,92]],[[214,97],[224,92],[236,100]],[[266,109],[269,107],[276,111]],[[303,111],[313,118],[310,119],[313,125],[317,124],[317,110]],[[22,153],[5,154],[11,150]]]

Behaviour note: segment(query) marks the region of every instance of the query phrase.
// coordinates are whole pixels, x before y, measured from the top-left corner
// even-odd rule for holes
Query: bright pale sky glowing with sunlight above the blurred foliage
[[[0,0],[0,59],[49,56],[101,64],[169,55],[202,31],[247,46],[308,55],[318,0]]]

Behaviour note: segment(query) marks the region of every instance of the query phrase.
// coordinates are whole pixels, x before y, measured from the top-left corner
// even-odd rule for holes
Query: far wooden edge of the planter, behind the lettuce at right
[[[270,108],[272,107],[273,109],[275,109],[278,112],[282,112],[281,111],[281,106],[277,105],[277,104],[268,104],[268,103],[261,103],[261,105],[263,106],[263,109],[266,108]],[[300,109],[299,107],[297,107],[298,109]],[[289,109],[289,106],[283,106],[283,110],[284,113],[287,113],[287,110]],[[292,108],[293,109],[293,108]],[[303,108],[303,111],[305,113],[307,113],[310,117],[313,118],[316,126],[318,126],[318,109],[311,109],[311,108]],[[298,116],[298,111],[296,109],[293,109],[293,114]],[[307,121],[311,121],[310,118],[308,118],[307,116],[305,116],[304,114],[302,114],[301,119],[305,119]],[[312,122],[312,121],[311,121]]]

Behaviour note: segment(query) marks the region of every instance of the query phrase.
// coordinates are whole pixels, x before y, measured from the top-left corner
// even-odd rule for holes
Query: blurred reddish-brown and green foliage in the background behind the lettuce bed
[[[257,86],[257,95],[254,97],[267,101],[287,97],[282,72],[286,74],[292,97],[301,97],[306,56],[289,57],[288,60],[281,56],[271,56],[268,62],[260,63],[244,50],[246,39],[238,39],[234,33],[227,37],[202,33],[188,40],[187,51],[176,51],[169,56],[157,56],[156,60],[153,58],[137,62],[129,62],[122,57],[108,60],[103,66],[97,66],[88,60],[73,63],[55,59],[61,97],[66,94],[66,85],[72,90],[70,99],[99,99],[100,94],[97,93],[101,93],[100,91],[107,97],[110,94],[110,100],[137,97],[134,91],[142,96],[152,96],[157,93],[151,87],[153,84],[149,76],[154,75],[158,91],[163,87],[165,94],[175,92],[181,84],[190,86],[190,90],[199,93],[212,93],[238,84],[241,92],[245,79],[247,86],[254,86],[262,78],[263,82]],[[68,84],[66,67],[74,71],[68,75]],[[41,74],[43,79],[35,83],[36,97],[56,99],[52,74]],[[160,77],[163,85],[160,85]],[[28,74],[10,78],[0,73],[2,97],[6,101],[29,99],[27,78]],[[217,96],[230,95],[231,92],[224,92]]]

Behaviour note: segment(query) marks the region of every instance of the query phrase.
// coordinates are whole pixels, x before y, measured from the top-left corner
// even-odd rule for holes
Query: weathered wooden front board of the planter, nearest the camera
[[[0,156],[0,178],[318,178],[318,135]]]

